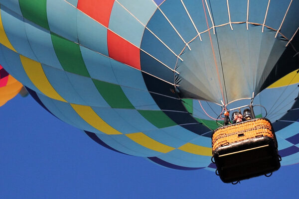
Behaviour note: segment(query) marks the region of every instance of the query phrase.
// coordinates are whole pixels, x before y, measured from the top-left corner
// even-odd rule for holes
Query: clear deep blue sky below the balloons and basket
[[[30,96],[0,107],[0,199],[298,198],[299,165],[231,185],[108,150]]]

